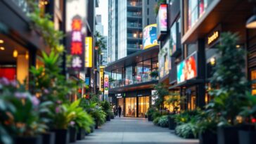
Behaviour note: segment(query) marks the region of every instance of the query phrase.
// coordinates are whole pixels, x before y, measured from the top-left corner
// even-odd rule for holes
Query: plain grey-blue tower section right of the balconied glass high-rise
[[[154,8],[157,6],[158,0],[142,0],[142,26],[146,27],[156,23]]]

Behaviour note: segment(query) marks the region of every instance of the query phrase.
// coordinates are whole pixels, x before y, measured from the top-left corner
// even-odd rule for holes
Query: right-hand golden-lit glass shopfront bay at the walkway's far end
[[[149,107],[149,96],[141,96],[139,99],[139,117],[145,117]]]

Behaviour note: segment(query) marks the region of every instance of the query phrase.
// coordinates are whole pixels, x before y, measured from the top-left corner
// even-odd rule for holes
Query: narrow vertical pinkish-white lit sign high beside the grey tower
[[[167,4],[160,4],[158,11],[160,32],[167,32]]]

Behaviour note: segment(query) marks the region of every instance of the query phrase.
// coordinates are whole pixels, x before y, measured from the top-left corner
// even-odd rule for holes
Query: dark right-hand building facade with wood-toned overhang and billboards
[[[250,53],[245,55],[245,75],[249,80],[255,79],[255,29],[245,27],[253,15],[249,1],[169,0],[166,4],[167,30],[160,32],[158,40],[160,51],[165,47],[169,49],[169,60],[163,60],[164,65],[159,62],[159,72],[161,76],[162,70],[169,68],[169,79],[160,77],[159,81],[166,81],[170,92],[186,98],[182,109],[193,110],[209,102],[209,79],[219,58],[217,45],[223,32],[238,34],[236,48],[245,48]],[[162,55],[159,61],[161,58]],[[254,91],[255,84],[252,84],[252,93]]]

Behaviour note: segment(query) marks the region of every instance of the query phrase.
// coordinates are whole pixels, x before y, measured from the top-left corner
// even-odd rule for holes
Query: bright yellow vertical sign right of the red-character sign
[[[92,37],[85,37],[85,67],[92,67]]]

